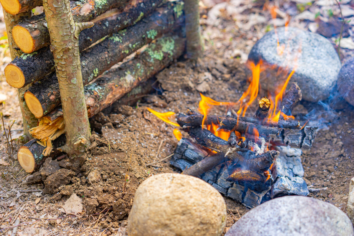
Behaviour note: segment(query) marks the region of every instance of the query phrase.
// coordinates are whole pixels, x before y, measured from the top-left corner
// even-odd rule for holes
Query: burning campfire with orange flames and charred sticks
[[[281,164],[276,161],[279,156],[283,159],[299,157],[301,150],[289,148],[309,149],[317,130],[317,127],[306,126],[307,121],[297,121],[291,115],[302,98],[299,86],[295,82],[289,84],[293,71],[275,96],[268,94],[257,99],[259,75],[264,71],[262,65],[262,61],[257,65],[249,63],[252,71],[250,85],[237,102],[217,102],[200,94],[198,111],[187,109],[185,114],[175,114],[147,108],[159,119],[189,134],[189,138],[182,138],[179,129],[173,130],[179,143],[171,165],[184,174],[202,178],[248,207],[259,205],[270,197],[308,194],[301,175],[297,177],[302,181],[291,179],[290,183],[275,184],[279,165],[283,165],[283,169],[288,168],[287,161],[281,161]],[[286,91],[287,86],[290,88]],[[253,115],[246,116],[250,113],[247,109],[253,104],[257,104]],[[225,107],[226,114],[211,115],[210,111],[215,106]],[[170,120],[172,116],[177,122]],[[298,154],[292,155],[291,152]],[[291,165],[302,169],[301,160],[295,162]],[[289,188],[283,188],[285,185]]]

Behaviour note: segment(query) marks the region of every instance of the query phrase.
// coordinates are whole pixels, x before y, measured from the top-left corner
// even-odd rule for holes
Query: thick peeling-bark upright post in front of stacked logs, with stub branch
[[[81,155],[90,145],[90,123],[82,84],[79,34],[93,26],[92,22],[75,23],[69,0],[44,0],[44,12],[50,35],[65,121],[69,155]]]

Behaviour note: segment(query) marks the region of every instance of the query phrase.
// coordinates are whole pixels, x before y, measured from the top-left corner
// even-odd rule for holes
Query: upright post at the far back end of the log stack
[[[203,51],[199,27],[199,0],[185,0],[185,30],[187,36],[187,55],[196,60]]]

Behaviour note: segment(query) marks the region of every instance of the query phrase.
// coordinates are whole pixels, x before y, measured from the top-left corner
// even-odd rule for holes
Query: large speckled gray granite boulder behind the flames
[[[289,73],[297,65],[290,82],[298,83],[302,98],[310,102],[328,98],[341,68],[331,42],[319,34],[293,27],[277,28],[277,33],[280,45],[278,50],[277,35],[273,30],[256,42],[249,59],[254,62],[262,59],[268,64],[288,68]],[[261,85],[273,90],[268,85],[274,85],[275,79],[279,81],[274,75],[261,76]]]

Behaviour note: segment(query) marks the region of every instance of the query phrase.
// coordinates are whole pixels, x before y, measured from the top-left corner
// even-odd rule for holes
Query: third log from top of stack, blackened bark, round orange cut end
[[[157,2],[154,0],[145,0],[143,2],[144,5],[139,4],[122,13],[113,12],[113,15],[108,15],[104,19],[96,21],[93,27],[81,31],[79,50],[83,51],[104,36],[117,33],[119,30],[131,26],[132,21],[136,22],[142,13],[148,15],[160,2],[162,0],[158,0]],[[174,5],[172,3],[168,4],[168,8],[172,9]],[[172,14],[173,12],[169,13]],[[137,28],[131,29],[137,31]],[[148,31],[148,29],[145,31]],[[119,35],[116,36],[119,39]],[[136,45],[139,38],[133,37],[129,38],[129,41],[123,40],[127,40],[127,37],[122,38],[120,44],[130,42],[131,45]],[[130,48],[122,49],[122,51],[130,50]],[[49,50],[49,47],[45,47],[33,54],[23,54],[9,63],[5,67],[6,82],[12,87],[21,88],[46,77],[47,74],[53,71],[55,71],[53,54]]]

